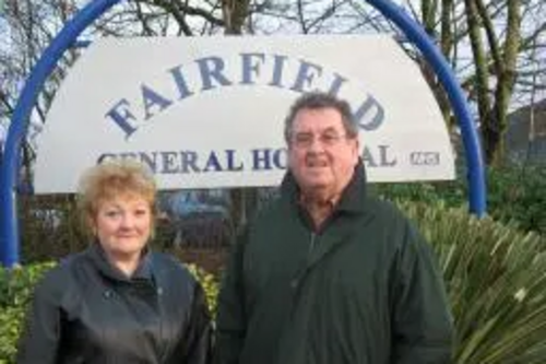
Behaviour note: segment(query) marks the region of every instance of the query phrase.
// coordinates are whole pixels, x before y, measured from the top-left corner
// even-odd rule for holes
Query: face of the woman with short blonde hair
[[[131,195],[102,201],[93,227],[110,258],[127,260],[140,257],[150,238],[152,222],[150,203]]]

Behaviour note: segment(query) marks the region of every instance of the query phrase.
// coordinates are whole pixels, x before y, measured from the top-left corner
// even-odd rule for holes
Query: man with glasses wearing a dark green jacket
[[[432,254],[368,197],[347,103],[302,95],[285,121],[288,172],[228,262],[222,364],[449,363],[452,321]]]

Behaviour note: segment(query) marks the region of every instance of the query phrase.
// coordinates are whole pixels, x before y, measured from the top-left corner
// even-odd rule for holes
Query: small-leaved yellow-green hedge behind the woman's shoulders
[[[14,363],[19,337],[34,286],[52,267],[54,262],[43,262],[12,270],[0,268],[0,364]],[[188,269],[201,282],[214,316],[218,291],[215,278],[195,265],[189,265]]]

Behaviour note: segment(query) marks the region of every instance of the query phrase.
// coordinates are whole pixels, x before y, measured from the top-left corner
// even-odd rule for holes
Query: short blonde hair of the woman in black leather
[[[154,225],[156,191],[154,176],[142,163],[112,160],[97,164],[86,169],[80,178],[79,208],[83,223],[91,228],[99,204],[121,196],[144,199],[152,211]]]

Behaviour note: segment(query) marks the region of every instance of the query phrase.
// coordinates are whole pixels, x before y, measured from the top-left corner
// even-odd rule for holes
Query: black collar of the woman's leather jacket
[[[133,275],[128,278],[119,269],[114,267],[106,257],[100,243],[97,240],[93,242],[87,248],[87,256],[90,257],[93,266],[105,277],[122,282],[132,282],[134,280],[153,280],[153,267],[151,253],[146,248],[143,253],[143,257]]]

